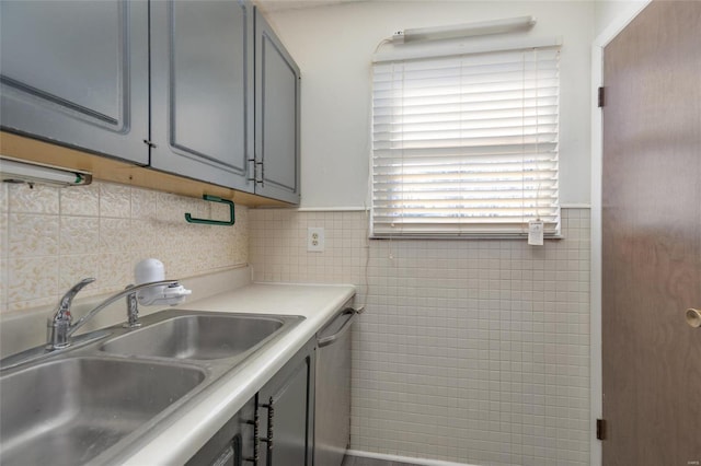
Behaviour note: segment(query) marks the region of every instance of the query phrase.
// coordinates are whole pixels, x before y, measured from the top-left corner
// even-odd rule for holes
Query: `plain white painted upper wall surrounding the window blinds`
[[[382,39],[410,27],[528,14],[538,19],[528,35],[563,37],[562,202],[588,205],[595,3],[463,0],[358,2],[268,15],[302,71],[302,207],[359,207],[366,202],[370,60]]]

